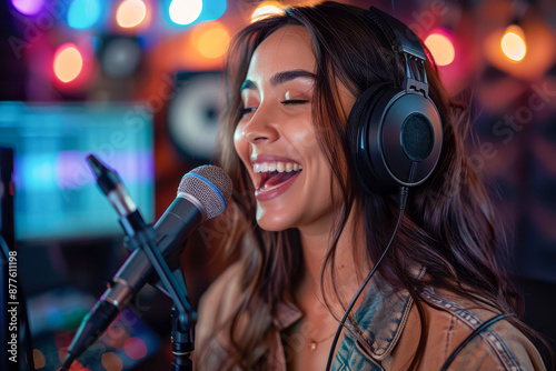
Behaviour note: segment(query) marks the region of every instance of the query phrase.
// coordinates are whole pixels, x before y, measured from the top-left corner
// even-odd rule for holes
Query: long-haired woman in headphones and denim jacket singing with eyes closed
[[[467,111],[396,22],[325,2],[235,38],[220,164],[241,257],[201,300],[198,370],[325,370],[330,351],[332,370],[545,370],[466,157]],[[369,120],[408,107],[375,99],[388,91],[427,109],[367,148]],[[394,170],[369,171],[384,164],[366,151]]]

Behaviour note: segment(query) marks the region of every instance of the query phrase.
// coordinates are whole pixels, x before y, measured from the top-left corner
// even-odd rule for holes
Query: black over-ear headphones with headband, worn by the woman
[[[443,124],[429,98],[426,54],[403,22],[371,7],[367,16],[404,58],[401,87],[369,87],[348,118],[351,157],[366,191],[384,192],[423,183],[435,170],[443,146]]]

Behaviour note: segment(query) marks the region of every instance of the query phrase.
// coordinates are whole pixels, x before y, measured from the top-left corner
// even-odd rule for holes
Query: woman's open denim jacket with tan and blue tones
[[[210,337],[227,320],[238,302],[239,267],[228,269],[205,293],[199,305],[196,349],[210,353],[210,360],[196,370],[222,370],[229,354],[228,331]],[[417,349],[421,325],[417,308],[407,291],[395,291],[379,278],[369,284],[355,312],[354,324],[346,324],[332,370],[407,370]],[[378,288],[376,282],[380,282]],[[423,294],[427,337],[418,370],[440,370],[451,352],[481,323],[497,313],[479,309],[469,301],[427,288]],[[302,318],[292,303],[279,303],[274,318],[280,333]],[[287,370],[287,347],[280,333],[268,354],[267,369]],[[449,370],[546,370],[533,343],[509,322],[502,320],[475,337],[455,358]]]

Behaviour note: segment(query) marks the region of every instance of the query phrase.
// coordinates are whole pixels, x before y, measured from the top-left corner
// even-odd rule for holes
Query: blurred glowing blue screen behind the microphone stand
[[[132,104],[0,102],[0,147],[14,151],[17,240],[122,234],[87,163],[89,153],[119,173],[152,221],[152,117]]]

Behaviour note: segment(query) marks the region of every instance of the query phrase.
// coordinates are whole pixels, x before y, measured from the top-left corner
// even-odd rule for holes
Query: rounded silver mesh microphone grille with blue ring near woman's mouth
[[[226,209],[226,201],[231,195],[231,179],[219,167],[206,164],[181,178],[179,193],[187,193],[199,200],[205,208],[207,219],[212,219]]]

